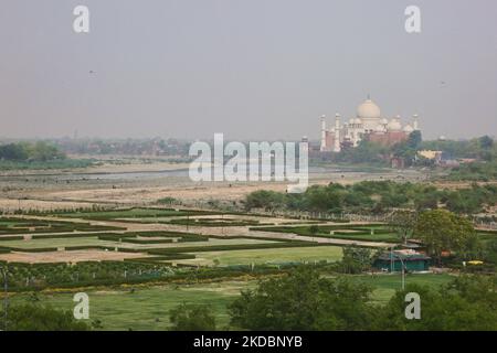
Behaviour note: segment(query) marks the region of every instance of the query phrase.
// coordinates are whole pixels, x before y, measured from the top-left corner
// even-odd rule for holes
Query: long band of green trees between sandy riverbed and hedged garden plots
[[[247,210],[374,214],[399,207],[426,210],[446,206],[456,213],[473,214],[497,203],[497,186],[474,184],[469,189],[438,190],[421,183],[363,181],[352,185],[313,185],[302,194],[255,191],[244,202]]]

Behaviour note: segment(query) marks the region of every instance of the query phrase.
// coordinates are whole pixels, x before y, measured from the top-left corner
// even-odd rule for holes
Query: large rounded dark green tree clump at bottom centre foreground
[[[364,330],[373,317],[371,288],[310,267],[260,282],[230,306],[231,323],[247,330]]]

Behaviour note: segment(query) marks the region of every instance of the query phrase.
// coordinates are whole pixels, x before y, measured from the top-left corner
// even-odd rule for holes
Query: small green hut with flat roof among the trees
[[[373,267],[389,272],[400,272],[402,267],[405,271],[426,271],[430,268],[431,257],[408,252],[389,252],[383,253],[373,264]]]

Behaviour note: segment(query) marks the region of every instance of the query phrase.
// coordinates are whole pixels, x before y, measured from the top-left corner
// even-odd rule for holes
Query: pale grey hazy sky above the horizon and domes
[[[0,137],[318,138],[368,93],[427,138],[497,135],[495,0],[2,0],[0,45]]]

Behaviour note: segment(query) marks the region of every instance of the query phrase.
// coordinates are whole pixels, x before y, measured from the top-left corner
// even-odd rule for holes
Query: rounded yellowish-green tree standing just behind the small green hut
[[[444,250],[459,252],[463,256],[472,250],[475,242],[473,224],[446,210],[422,212],[414,227],[415,236],[438,261]]]

